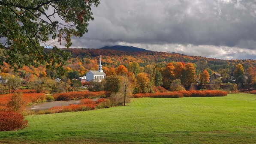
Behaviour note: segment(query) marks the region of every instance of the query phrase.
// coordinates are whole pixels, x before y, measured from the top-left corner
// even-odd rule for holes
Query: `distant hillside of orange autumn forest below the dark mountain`
[[[119,65],[128,65],[129,62],[136,61],[139,66],[146,66],[150,63],[184,62],[194,63],[196,69],[203,71],[206,68],[218,72],[221,69],[234,70],[235,66],[241,63],[244,69],[256,66],[256,60],[220,60],[200,56],[187,56],[184,54],[166,53],[166,52],[129,52],[105,49],[87,49],[87,48],[70,48],[66,49],[72,53],[69,63],[81,62],[85,68],[97,69],[99,52],[102,55],[102,65],[106,67],[117,67]],[[93,65],[91,67],[91,65]]]

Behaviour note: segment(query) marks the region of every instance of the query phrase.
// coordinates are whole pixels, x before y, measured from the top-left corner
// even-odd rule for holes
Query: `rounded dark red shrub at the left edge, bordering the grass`
[[[0,131],[11,131],[22,129],[27,126],[27,120],[16,112],[0,111]]]

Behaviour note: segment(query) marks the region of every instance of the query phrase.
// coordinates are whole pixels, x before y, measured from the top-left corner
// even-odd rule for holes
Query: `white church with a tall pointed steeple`
[[[86,81],[101,81],[102,79],[106,78],[106,74],[102,70],[101,65],[101,59],[100,59],[100,53],[99,53],[99,70],[98,71],[92,71],[90,70],[86,74]]]

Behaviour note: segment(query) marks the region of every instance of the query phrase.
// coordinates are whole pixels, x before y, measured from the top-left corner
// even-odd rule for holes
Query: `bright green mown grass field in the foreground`
[[[256,144],[256,95],[140,98],[125,107],[31,115],[0,143]]]

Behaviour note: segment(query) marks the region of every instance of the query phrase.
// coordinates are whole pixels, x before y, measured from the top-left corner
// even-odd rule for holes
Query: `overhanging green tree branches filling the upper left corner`
[[[72,36],[81,37],[88,31],[92,5],[98,6],[99,0],[1,0],[0,53],[8,55],[1,61],[15,69],[43,63],[63,70],[69,54],[56,46],[45,52],[40,44],[51,36],[69,48]]]

